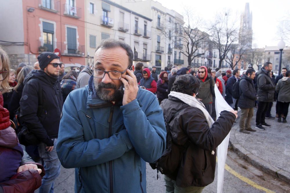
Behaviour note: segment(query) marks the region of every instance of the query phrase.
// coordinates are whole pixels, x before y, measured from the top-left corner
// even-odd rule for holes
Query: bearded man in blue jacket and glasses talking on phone
[[[129,45],[104,40],[88,85],[64,103],[57,153],[75,168],[75,192],[146,192],[146,162],[166,148],[162,110],[153,93],[138,88],[132,64]]]

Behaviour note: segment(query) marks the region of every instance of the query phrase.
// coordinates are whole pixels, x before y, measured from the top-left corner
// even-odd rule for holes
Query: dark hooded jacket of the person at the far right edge
[[[283,77],[276,86],[279,102],[290,102],[290,78]]]

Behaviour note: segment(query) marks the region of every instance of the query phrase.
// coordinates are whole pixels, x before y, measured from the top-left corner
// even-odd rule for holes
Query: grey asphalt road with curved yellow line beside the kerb
[[[278,181],[275,177],[259,171],[231,150],[228,151],[226,164],[232,170],[225,170],[224,193],[290,192],[290,184]],[[55,192],[74,192],[74,174],[74,169],[65,169],[62,167],[61,174],[55,180]],[[165,192],[163,175],[159,173],[159,179],[157,180],[156,174],[156,170],[152,170],[149,164],[147,164],[146,179],[148,193]],[[217,177],[215,177],[213,183],[208,185],[203,192],[217,192]]]

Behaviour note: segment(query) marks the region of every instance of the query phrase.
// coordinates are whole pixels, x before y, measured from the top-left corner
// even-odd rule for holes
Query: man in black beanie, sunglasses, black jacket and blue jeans
[[[53,182],[60,173],[56,153],[59,119],[63,99],[59,84],[59,56],[43,52],[38,57],[40,70],[26,76],[20,99],[20,119],[35,136],[39,156],[44,160],[46,175],[39,192],[53,192]]]

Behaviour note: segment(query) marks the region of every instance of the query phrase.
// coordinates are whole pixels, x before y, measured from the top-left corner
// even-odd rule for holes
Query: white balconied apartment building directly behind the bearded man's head
[[[98,44],[107,38],[124,41],[134,53],[133,65],[151,65],[151,21],[133,10],[108,0],[86,0],[87,63],[93,62]]]

